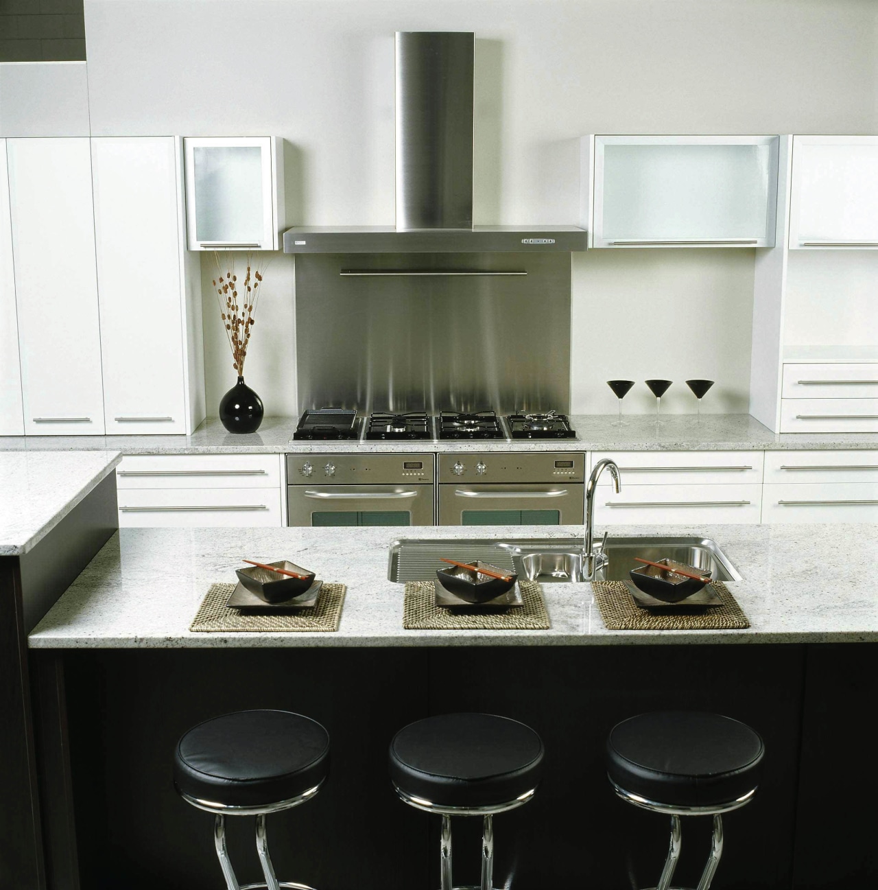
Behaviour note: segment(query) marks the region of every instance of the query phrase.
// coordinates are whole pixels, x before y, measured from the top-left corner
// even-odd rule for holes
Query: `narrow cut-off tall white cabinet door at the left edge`
[[[0,436],[24,434],[19,364],[19,323],[12,274],[12,223],[6,141],[0,139]]]

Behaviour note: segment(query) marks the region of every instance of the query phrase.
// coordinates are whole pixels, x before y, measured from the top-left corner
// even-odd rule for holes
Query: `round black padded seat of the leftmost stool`
[[[177,743],[173,780],[189,797],[223,806],[269,806],[326,777],[329,734],[289,711],[237,711],[205,720]]]

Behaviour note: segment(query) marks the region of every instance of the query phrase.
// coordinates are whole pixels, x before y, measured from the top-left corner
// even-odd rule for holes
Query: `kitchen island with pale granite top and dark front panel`
[[[173,790],[173,744],[199,720],[265,707],[312,716],[332,738],[326,789],[308,813],[280,816],[271,829],[278,874],[313,886],[436,884],[436,825],[393,796],[386,748],[412,720],[470,709],[534,726],[548,751],[534,803],[497,821],[498,886],[622,886],[626,875],[633,886],[654,883],[665,826],[615,800],[602,751],[614,723],[658,708],[719,711],[766,741],[765,780],[753,805],[729,817],[716,886],[816,890],[865,881],[878,866],[867,803],[878,780],[866,771],[845,781],[842,772],[872,757],[878,528],[614,531],[714,538],[742,576],[728,586],[752,626],[610,632],[589,585],[546,584],[548,631],[408,631],[403,588],[388,580],[391,541],[473,530],[121,530],[28,641],[31,658],[66,684],[69,745],[56,759],[66,758],[72,793],[56,805],[77,826],[82,886],[216,886],[209,820]],[[207,588],[232,580],[245,554],[283,556],[346,584],[339,630],[190,633]],[[462,878],[478,873],[478,827],[469,822],[455,834]],[[697,880],[708,829],[699,820],[687,829],[684,884]],[[252,857],[251,844],[243,827],[233,833],[233,860]]]

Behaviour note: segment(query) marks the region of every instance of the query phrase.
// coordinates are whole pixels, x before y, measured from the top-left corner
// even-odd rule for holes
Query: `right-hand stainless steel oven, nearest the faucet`
[[[439,455],[439,525],[581,524],[585,457],[554,451]]]

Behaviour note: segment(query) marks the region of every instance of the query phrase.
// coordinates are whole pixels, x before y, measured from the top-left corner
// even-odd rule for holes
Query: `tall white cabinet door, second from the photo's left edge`
[[[103,433],[89,140],[6,149],[25,432]]]

